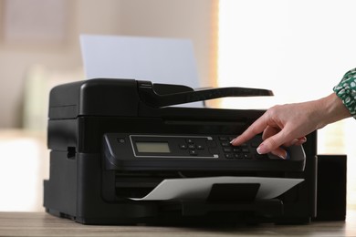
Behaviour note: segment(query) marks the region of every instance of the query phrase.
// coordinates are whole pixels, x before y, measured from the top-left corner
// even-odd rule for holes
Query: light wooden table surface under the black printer
[[[356,212],[349,212],[346,222],[204,228],[83,225],[45,212],[0,212],[0,236],[356,236]]]

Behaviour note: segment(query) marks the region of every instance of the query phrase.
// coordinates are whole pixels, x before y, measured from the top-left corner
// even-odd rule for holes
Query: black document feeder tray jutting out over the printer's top
[[[207,88],[194,90],[177,85],[152,84],[150,81],[138,81],[138,87],[141,100],[154,108],[214,98],[273,96],[271,90],[261,88]]]

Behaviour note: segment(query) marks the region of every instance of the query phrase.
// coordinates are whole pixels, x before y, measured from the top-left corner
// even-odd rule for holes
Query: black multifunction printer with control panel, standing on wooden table
[[[224,97],[271,96],[256,88],[207,88],[95,78],[52,88],[44,206],[84,224],[308,223],[317,215],[317,134],[288,160],[258,155],[261,136],[229,141],[265,111],[173,107]],[[299,179],[276,197],[255,182],[213,183],[204,198],[144,200],[164,180]],[[174,190],[174,187],[171,187]]]

